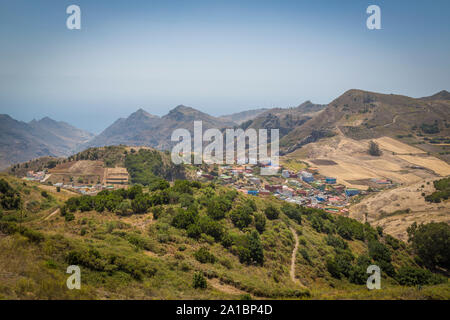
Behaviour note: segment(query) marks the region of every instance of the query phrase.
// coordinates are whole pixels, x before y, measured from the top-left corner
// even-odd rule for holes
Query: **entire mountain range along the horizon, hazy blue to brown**
[[[335,134],[353,139],[395,137],[420,134],[425,126],[448,137],[448,119],[450,93],[445,90],[423,98],[349,90],[328,105],[306,101],[294,108],[255,109],[221,117],[184,105],[162,117],[139,109],[97,136],[48,117],[26,123],[0,115],[0,169],[41,156],[68,156],[89,147],[124,144],[167,150],[173,145],[172,132],[178,128],[192,132],[194,120],[201,120],[204,130],[278,128],[283,154]]]

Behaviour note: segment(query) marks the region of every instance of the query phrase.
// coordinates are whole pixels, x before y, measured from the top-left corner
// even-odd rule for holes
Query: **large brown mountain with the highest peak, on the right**
[[[383,136],[403,139],[408,144],[448,160],[446,148],[438,141],[450,135],[450,100],[445,92],[428,98],[410,98],[349,90],[332,101],[319,115],[292,130],[280,141],[283,153],[323,137],[342,133],[361,140]],[[441,142],[444,143],[444,142]]]

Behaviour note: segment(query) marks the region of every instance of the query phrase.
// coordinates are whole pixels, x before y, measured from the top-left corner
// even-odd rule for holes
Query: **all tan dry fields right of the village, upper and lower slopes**
[[[422,193],[433,191],[432,181],[450,175],[450,165],[427,155],[422,150],[389,137],[375,139],[382,156],[367,154],[370,140],[353,140],[343,135],[311,143],[283,160],[302,160],[317,167],[326,176],[337,177],[338,183],[359,189],[368,188],[371,178],[390,179],[399,187],[363,199],[350,209],[350,217],[364,221],[365,213],[373,225],[406,240],[406,229],[413,222],[450,222],[450,203],[430,204]],[[317,159],[332,160],[335,165],[314,163]],[[422,167],[422,169],[415,166]],[[423,187],[422,187],[423,186]],[[396,211],[410,209],[410,213],[387,217]]]

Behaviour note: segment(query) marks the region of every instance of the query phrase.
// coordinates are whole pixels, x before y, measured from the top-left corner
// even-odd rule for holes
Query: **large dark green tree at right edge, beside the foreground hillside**
[[[431,222],[408,229],[408,242],[411,243],[423,264],[429,268],[450,268],[450,226],[445,222]]]

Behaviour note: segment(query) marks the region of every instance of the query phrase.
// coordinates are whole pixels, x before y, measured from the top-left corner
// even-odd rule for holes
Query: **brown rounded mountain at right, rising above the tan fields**
[[[412,133],[411,128],[438,121],[441,135],[449,136],[450,100],[445,95],[415,99],[393,94],[349,90],[332,101],[327,108],[280,141],[284,150],[293,151],[295,144],[313,131],[342,132],[353,139],[382,136],[395,137]],[[436,100],[437,99],[437,100]]]

